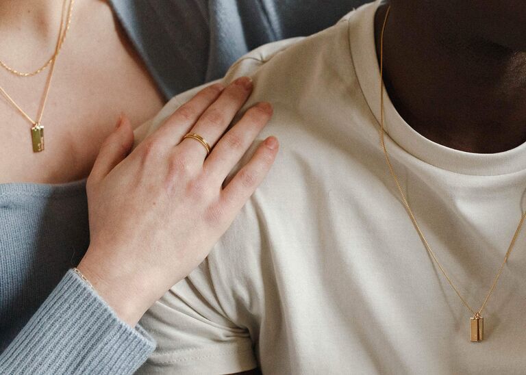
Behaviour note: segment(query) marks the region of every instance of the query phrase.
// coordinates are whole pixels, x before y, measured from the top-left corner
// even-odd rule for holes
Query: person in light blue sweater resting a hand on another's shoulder
[[[342,3],[321,18],[338,18]],[[203,70],[218,71],[202,61],[229,61],[223,44],[248,49],[249,35],[292,36],[303,21],[314,32],[316,20],[281,23],[293,12],[281,5],[272,19],[264,8],[232,14],[284,31],[223,41],[208,23],[223,30],[214,6],[234,1],[151,2],[145,18],[142,5],[0,1],[1,374],[133,373],[155,347],[141,315],[203,261],[277,155],[275,137],[258,140],[231,174],[273,113],[260,101],[233,121],[249,77],[203,88],[146,135],[147,120],[172,92],[210,78]],[[181,14],[191,28],[172,24]]]

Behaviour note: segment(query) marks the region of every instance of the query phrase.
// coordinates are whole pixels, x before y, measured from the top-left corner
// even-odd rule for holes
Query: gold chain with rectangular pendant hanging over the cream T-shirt
[[[451,281],[451,279],[447,275],[447,272],[444,270],[444,267],[442,267],[442,265],[438,261],[438,258],[436,257],[435,253],[433,252],[433,250],[431,250],[431,246],[429,246],[429,244],[427,243],[427,240],[425,239],[424,234],[422,233],[420,226],[418,225],[418,222],[416,222],[416,218],[414,217],[413,211],[408,203],[408,200],[405,198],[405,195],[403,194],[401,185],[398,181],[397,174],[395,173],[395,170],[393,170],[392,168],[392,165],[391,165],[388,153],[387,153],[386,144],[384,142],[384,31],[386,29],[387,18],[389,16],[390,9],[391,7],[389,5],[386,11],[384,25],[382,25],[381,27],[381,36],[380,36],[380,144],[381,144],[381,147],[384,149],[384,155],[386,157],[386,162],[389,167],[389,172],[392,178],[395,180],[398,191],[403,201],[403,205],[407,209],[408,214],[414,224],[414,227],[416,228],[418,235],[420,235],[427,252],[429,253],[429,255],[431,255],[431,258],[433,258],[433,260],[436,262],[436,264],[438,265],[438,268],[440,268],[440,271],[442,272],[442,274],[444,274],[449,285],[451,285],[455,293],[459,296],[460,300],[462,300],[462,303],[464,303],[464,306],[466,306],[468,310],[471,311],[471,313],[473,314],[473,316],[470,318],[471,341],[482,341],[484,339],[484,318],[482,318],[481,313],[484,310],[484,307],[486,307],[486,304],[488,303],[488,300],[490,299],[490,296],[495,288],[495,285],[497,285],[497,281],[499,280],[499,277],[501,276],[501,273],[502,273],[502,270],[504,268],[506,261],[508,261],[508,257],[510,257],[510,253],[512,252],[513,245],[515,244],[518,234],[521,232],[521,227],[523,226],[523,222],[526,218],[526,212],[521,217],[521,221],[518,222],[518,227],[512,238],[512,242],[510,243],[510,246],[508,247],[508,251],[506,252],[504,261],[502,262],[501,267],[499,268],[499,272],[497,272],[497,276],[495,276],[493,280],[493,283],[490,287],[488,294],[486,294],[486,298],[484,298],[484,302],[482,302],[480,309],[478,310],[472,309],[471,306],[468,305],[468,302],[466,302],[466,299],[462,297],[457,287],[455,287],[455,284],[453,283],[453,281]]]

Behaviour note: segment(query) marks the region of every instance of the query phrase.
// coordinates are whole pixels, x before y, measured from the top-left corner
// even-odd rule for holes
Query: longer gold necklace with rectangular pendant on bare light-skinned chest
[[[33,125],[31,128],[31,139],[34,153],[44,151],[44,127],[40,124],[40,121],[42,120],[42,115],[44,114],[44,109],[46,107],[47,96],[49,95],[49,88],[51,87],[51,80],[53,79],[53,72],[55,70],[55,62],[57,61],[58,51],[60,51],[60,47],[62,47],[62,41],[64,41],[64,35],[62,31],[64,30],[64,12],[66,3],[67,0],[64,0],[64,3],[62,4],[62,17],[60,18],[60,30],[58,33],[57,44],[55,46],[55,57],[53,57],[51,61],[51,68],[49,69],[49,75],[47,76],[46,86],[44,88],[44,96],[42,97],[42,103],[40,105],[40,110],[37,114],[36,120],[33,120],[31,117],[29,117],[29,115],[18,104],[16,104],[12,97],[0,86],[0,92],[3,94],[3,96],[5,96],[5,99],[7,99],[16,109],[18,109],[18,112],[20,112],[22,116],[24,116]],[[73,11],[73,3],[75,3],[75,0],[71,0],[69,3],[69,21],[66,22],[67,26],[71,21],[70,17],[71,12]]]

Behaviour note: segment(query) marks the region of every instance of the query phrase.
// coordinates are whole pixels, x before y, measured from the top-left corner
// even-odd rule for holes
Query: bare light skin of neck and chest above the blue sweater
[[[34,70],[51,57],[62,0],[0,1],[0,59]],[[0,69],[0,85],[36,116],[48,70],[21,78]],[[121,113],[137,127],[164,99],[118,28],[108,4],[75,1],[42,125],[46,150],[33,153],[31,125],[0,96],[0,183],[64,183],[88,177]]]

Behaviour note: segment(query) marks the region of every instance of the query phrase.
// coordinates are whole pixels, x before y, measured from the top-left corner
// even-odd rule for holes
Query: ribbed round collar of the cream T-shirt
[[[355,74],[378,126],[380,123],[380,71],[375,46],[375,13],[381,0],[355,10],[349,22]],[[403,150],[427,164],[479,176],[496,176],[526,169],[526,142],[501,153],[468,153],[433,142],[415,131],[400,116],[384,90],[384,130]],[[388,149],[389,152],[389,149]]]

